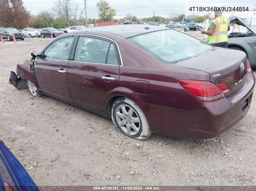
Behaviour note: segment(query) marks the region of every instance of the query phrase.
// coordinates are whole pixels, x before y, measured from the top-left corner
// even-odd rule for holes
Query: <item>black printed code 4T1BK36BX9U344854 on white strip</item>
[[[248,7],[190,7],[189,11],[249,11]]]

